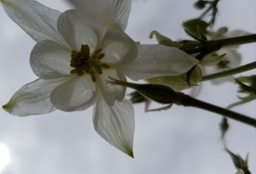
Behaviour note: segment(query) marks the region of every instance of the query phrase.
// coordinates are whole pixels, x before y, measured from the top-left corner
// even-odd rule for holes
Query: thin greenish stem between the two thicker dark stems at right
[[[229,75],[239,74],[241,72],[246,72],[248,70],[253,70],[256,68],[256,61],[252,63],[248,63],[246,65],[243,65],[241,67],[233,68],[231,70],[225,70],[223,72],[218,72],[210,75],[205,75],[200,81],[209,81],[212,79],[218,79],[221,77],[226,77]]]

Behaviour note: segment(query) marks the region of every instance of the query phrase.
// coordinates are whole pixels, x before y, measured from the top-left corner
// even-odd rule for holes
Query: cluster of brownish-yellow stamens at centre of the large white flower
[[[102,49],[97,49],[90,55],[90,48],[88,45],[81,45],[79,52],[72,51],[70,66],[74,69],[70,74],[77,74],[79,76],[90,74],[92,81],[96,82],[95,74],[102,74],[102,68],[109,68],[109,65],[102,63],[101,59],[105,54],[101,52]]]

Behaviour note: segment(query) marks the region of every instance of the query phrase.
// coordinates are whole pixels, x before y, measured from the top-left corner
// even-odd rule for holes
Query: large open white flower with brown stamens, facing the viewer
[[[122,30],[87,24],[75,10],[60,13],[31,0],[2,3],[10,18],[37,42],[30,63],[39,77],[20,88],[3,108],[12,115],[27,116],[55,109],[81,111],[93,105],[95,130],[130,156],[133,107],[124,98],[125,88],[111,86],[106,79],[178,75],[198,63],[179,49],[162,45],[137,47]],[[131,8],[131,1],[117,4],[112,6],[113,19],[128,19],[129,13],[120,9]],[[127,25],[127,20],[122,22]]]

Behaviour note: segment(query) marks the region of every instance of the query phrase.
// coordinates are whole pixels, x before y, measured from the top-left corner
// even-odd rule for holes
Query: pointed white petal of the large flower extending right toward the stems
[[[198,61],[186,52],[164,45],[138,45],[138,57],[118,67],[133,80],[160,75],[180,75],[188,72]]]

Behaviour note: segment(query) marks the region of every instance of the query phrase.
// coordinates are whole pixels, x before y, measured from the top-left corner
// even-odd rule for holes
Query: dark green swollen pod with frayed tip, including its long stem
[[[252,125],[256,127],[256,120],[250,118],[245,115],[241,115],[239,113],[235,113],[233,111],[229,111],[228,109],[224,109],[219,106],[214,106],[212,104],[194,99],[189,95],[185,95],[181,92],[175,92],[172,88],[168,86],[164,86],[161,84],[136,84],[136,83],[127,83],[124,81],[118,81],[110,77],[110,84],[126,86],[132,88],[148,99],[154,100],[155,102],[159,102],[160,104],[177,104],[183,106],[193,106],[198,107],[200,109],[205,109],[207,111],[211,111],[213,113],[218,113],[220,115],[226,116],[227,118],[232,118],[242,123],[246,123],[248,125]]]

